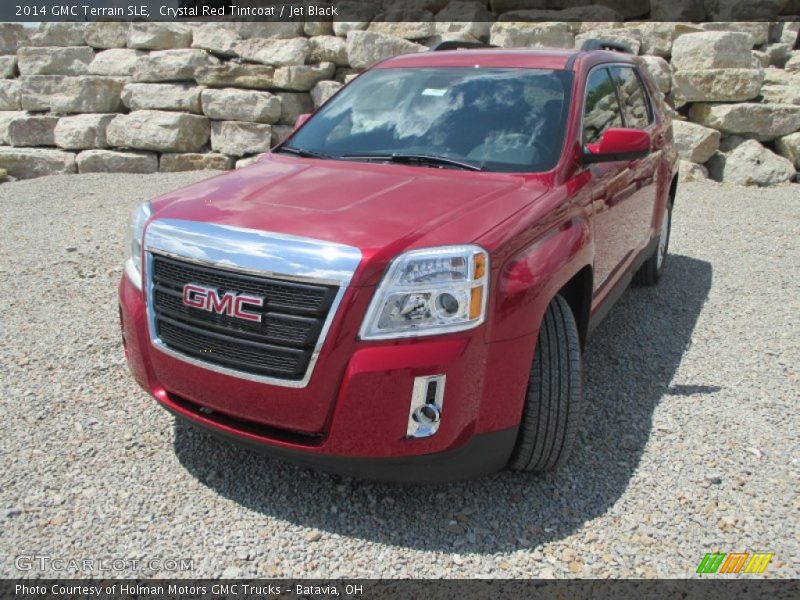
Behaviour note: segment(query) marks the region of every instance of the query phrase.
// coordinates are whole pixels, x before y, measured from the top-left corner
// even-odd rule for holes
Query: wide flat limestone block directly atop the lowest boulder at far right
[[[791,104],[692,104],[689,118],[722,133],[761,141],[773,140],[800,129],[800,106]]]

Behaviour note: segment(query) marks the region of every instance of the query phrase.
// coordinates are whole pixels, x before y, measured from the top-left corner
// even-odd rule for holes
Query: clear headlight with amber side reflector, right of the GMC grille
[[[363,340],[452,333],[486,314],[489,255],[479,246],[412,250],[392,261],[367,310]]]

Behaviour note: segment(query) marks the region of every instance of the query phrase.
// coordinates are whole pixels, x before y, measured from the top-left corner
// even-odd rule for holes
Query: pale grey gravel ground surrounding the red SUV
[[[799,187],[682,186],[662,283],[588,346],[566,468],[402,488],[216,441],[129,376],[129,212],[204,176],[0,186],[0,576],[39,554],[191,558],[185,577],[686,577],[710,551],[800,575]]]

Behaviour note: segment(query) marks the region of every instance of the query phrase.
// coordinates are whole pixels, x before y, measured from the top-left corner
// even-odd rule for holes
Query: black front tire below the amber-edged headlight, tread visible
[[[547,307],[539,330],[509,467],[541,472],[564,464],[575,444],[581,405],[578,328],[567,301],[556,296]]]

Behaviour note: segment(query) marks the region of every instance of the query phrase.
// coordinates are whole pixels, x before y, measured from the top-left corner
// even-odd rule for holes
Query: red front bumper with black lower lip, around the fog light
[[[371,290],[348,291],[305,388],[245,381],[150,342],[142,292],[119,288],[126,355],[138,383],[173,414],[215,434],[326,470],[398,481],[496,471],[516,439],[536,336],[487,343],[483,327],[448,336],[358,342]],[[416,377],[445,374],[438,432],[406,437]]]

